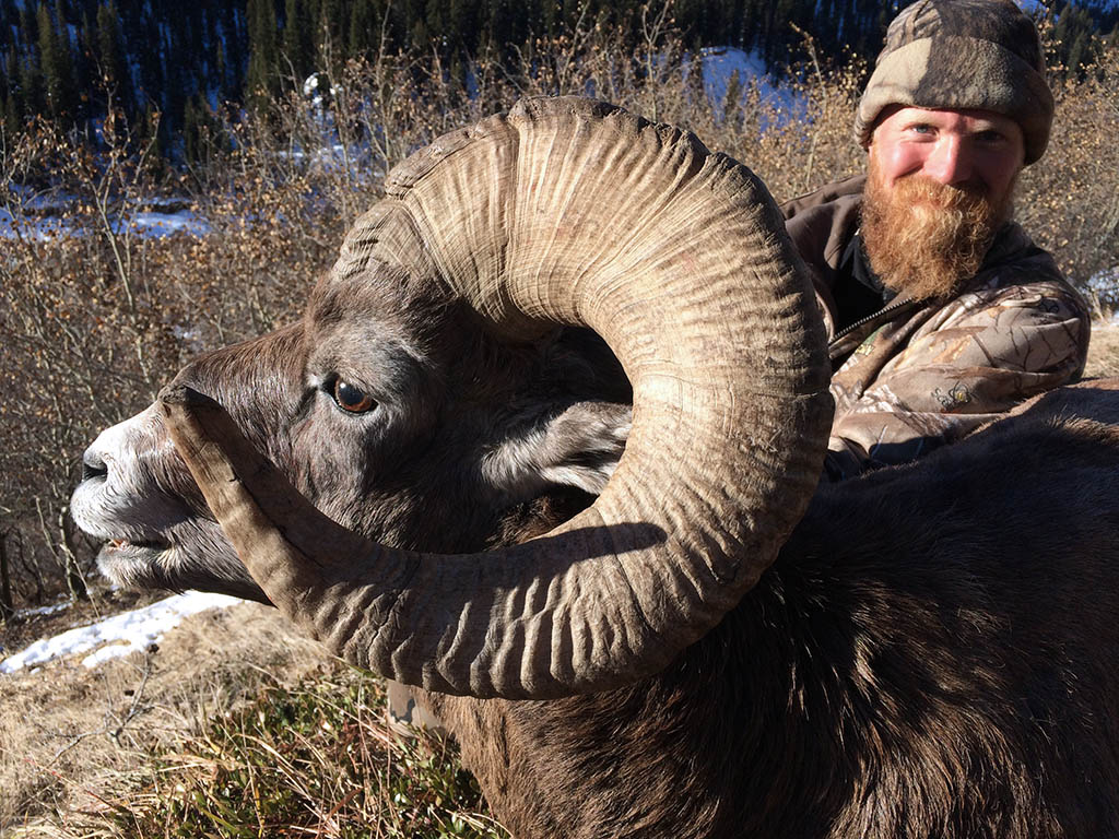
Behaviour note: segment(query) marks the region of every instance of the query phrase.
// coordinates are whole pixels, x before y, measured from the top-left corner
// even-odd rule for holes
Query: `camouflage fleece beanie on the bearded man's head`
[[[1033,21],[1013,0],[918,0],[886,30],[863,92],[855,138],[871,144],[887,105],[994,111],[1022,126],[1026,158],[1049,143],[1053,94]]]

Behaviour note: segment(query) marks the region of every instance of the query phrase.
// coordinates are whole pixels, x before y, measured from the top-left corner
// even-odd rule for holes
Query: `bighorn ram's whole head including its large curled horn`
[[[819,480],[826,347],[781,225],[689,134],[519,103],[391,173],[298,327],[180,374],[161,465],[95,446],[77,518],[141,549],[135,579],[248,587],[224,545],[197,575],[171,550],[208,518],[182,456],[260,591],[347,660],[478,698],[631,685],[742,600]],[[113,460],[170,513],[104,494],[145,484]]]

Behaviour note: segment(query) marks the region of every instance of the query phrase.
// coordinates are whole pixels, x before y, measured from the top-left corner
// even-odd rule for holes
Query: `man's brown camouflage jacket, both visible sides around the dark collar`
[[[782,206],[828,331],[834,480],[958,440],[1026,397],[1074,380],[1088,355],[1088,307],[1013,221],[951,300],[899,294],[837,332],[833,290],[858,228],[864,182],[848,178]]]

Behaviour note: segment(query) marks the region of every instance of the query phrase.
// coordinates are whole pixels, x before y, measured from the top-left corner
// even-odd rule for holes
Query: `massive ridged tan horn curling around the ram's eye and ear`
[[[207,501],[272,601],[349,661],[430,690],[549,698],[653,673],[773,560],[819,479],[828,366],[761,182],[695,136],[527,100],[402,163],[331,282],[442,283],[511,338],[585,324],[633,385],[592,507],[471,556],[323,517],[206,398],[164,395]]]

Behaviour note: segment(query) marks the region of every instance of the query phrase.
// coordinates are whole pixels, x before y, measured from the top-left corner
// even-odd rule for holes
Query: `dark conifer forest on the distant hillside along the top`
[[[692,48],[756,50],[781,72],[803,32],[821,56],[872,57],[906,2],[677,0],[667,23]],[[649,36],[664,9],[638,0],[0,0],[0,106],[12,133],[36,115],[82,128],[110,110],[190,157],[222,109],[260,104],[347,60],[413,49],[463,78],[479,60],[509,65],[539,39],[606,27]],[[1119,7],[1073,0],[1056,10],[1062,58],[1091,58]],[[658,22],[664,26],[664,16]]]

